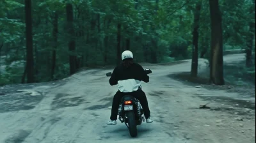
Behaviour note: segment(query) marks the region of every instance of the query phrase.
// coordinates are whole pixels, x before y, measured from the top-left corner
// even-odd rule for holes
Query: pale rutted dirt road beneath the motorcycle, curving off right
[[[199,61],[202,68],[204,61]],[[106,124],[117,90],[106,77],[111,70],[87,70],[54,83],[0,87],[0,142],[255,142],[255,95],[207,90],[168,77],[190,67],[189,62],[144,67],[152,70],[150,82],[142,87],[154,123],[138,126],[136,139],[125,124]],[[198,109],[209,101],[212,109]]]

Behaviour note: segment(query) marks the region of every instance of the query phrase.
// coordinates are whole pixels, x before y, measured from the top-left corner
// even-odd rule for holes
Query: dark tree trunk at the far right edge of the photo
[[[251,7],[250,13],[253,13],[253,18],[254,20],[251,20],[249,23],[249,34],[247,37],[247,42],[246,42],[246,66],[251,67],[253,66],[253,61],[252,61],[252,49],[253,49],[253,40],[254,40],[254,34],[255,34],[255,0],[253,1],[253,6]]]

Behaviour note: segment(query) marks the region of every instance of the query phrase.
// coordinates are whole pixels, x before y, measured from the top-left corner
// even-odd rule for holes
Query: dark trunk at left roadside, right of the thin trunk
[[[76,50],[76,42],[74,40],[74,15],[73,15],[73,8],[72,4],[66,5],[66,12],[67,12],[67,30],[69,34],[70,41],[68,42],[68,50],[70,51],[69,56],[69,66],[70,66],[70,75],[76,73],[76,56],[75,56],[75,50]]]

